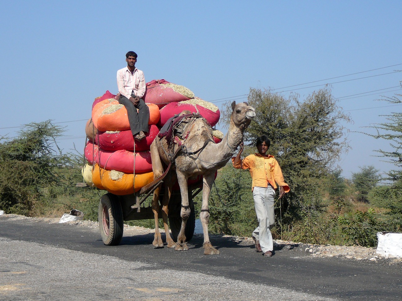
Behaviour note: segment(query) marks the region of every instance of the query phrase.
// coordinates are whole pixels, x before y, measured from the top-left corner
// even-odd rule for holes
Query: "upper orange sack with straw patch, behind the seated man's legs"
[[[157,124],[160,118],[159,108],[156,104],[147,104],[150,110],[148,124]],[[98,102],[92,109],[92,121],[95,128],[101,132],[129,130],[127,110],[113,98]]]

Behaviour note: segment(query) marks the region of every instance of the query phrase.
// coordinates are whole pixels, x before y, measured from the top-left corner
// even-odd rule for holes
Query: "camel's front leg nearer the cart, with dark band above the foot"
[[[176,251],[187,251],[189,247],[186,244],[186,223],[190,216],[190,206],[189,206],[189,194],[187,191],[187,177],[181,173],[180,171],[176,171],[177,173],[177,181],[180,186],[180,194],[181,194],[181,228],[180,232],[177,236],[177,246],[174,248]]]

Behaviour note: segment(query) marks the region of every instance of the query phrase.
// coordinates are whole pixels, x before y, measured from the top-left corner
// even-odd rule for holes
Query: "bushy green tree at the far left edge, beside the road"
[[[63,132],[47,120],[25,125],[16,138],[1,139],[0,207],[6,213],[29,215],[49,187],[64,181],[55,173],[70,164],[56,143]]]

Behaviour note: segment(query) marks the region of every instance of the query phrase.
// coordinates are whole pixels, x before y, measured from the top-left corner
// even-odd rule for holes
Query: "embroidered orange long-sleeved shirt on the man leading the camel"
[[[272,155],[267,157],[261,156],[259,153],[249,155],[238,163],[234,163],[235,157],[232,158],[233,167],[237,169],[249,169],[252,177],[251,190],[254,187],[268,187],[268,183],[272,187],[277,188],[283,186],[285,192],[289,192],[289,185],[285,183],[283,174],[278,161]]]

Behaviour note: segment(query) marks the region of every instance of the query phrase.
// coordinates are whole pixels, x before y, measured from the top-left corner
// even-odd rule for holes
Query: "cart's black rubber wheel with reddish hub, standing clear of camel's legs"
[[[98,221],[103,243],[117,246],[123,237],[123,210],[112,193],[106,193],[100,198]]]

